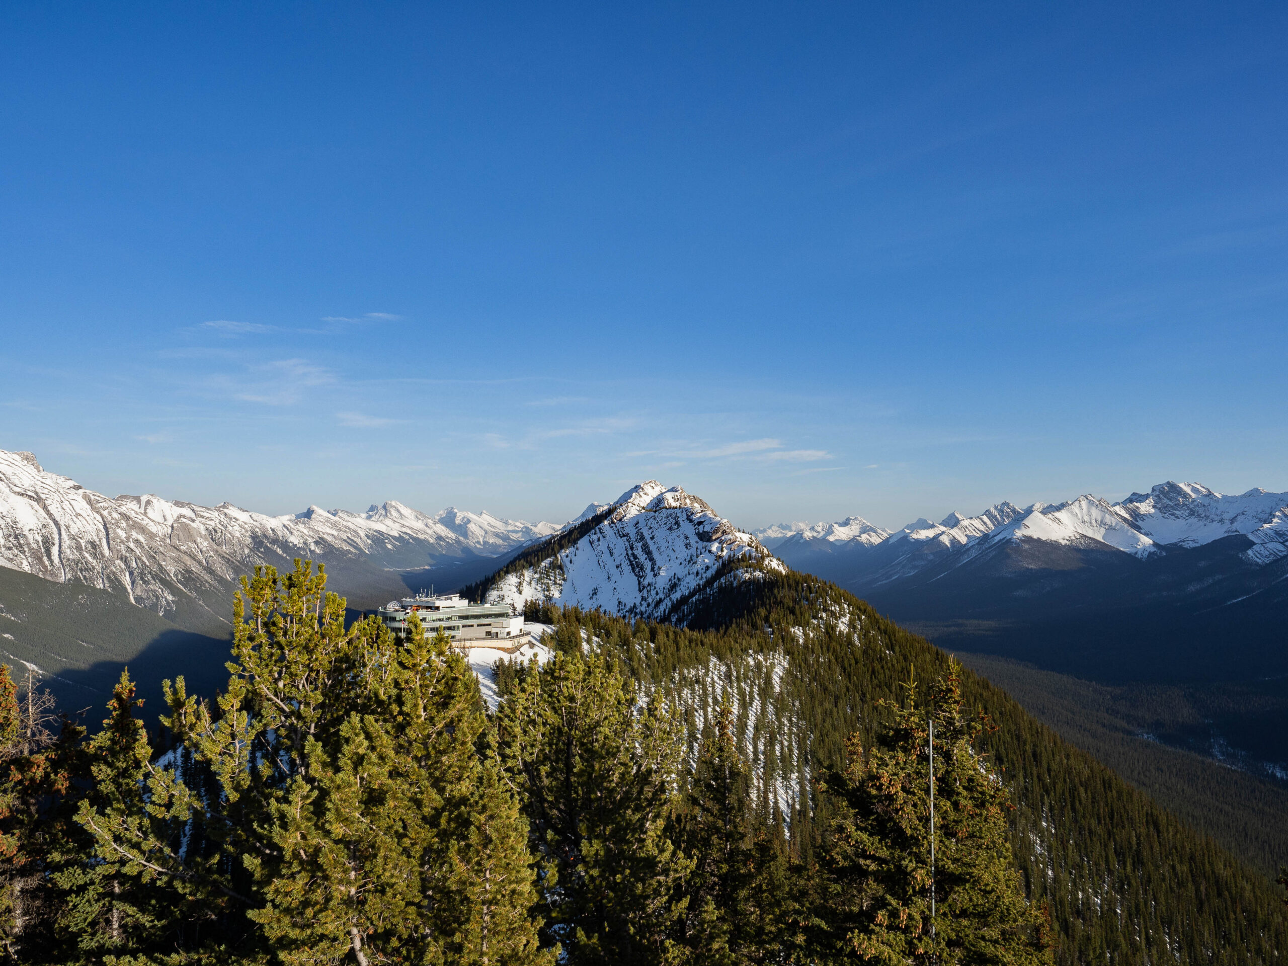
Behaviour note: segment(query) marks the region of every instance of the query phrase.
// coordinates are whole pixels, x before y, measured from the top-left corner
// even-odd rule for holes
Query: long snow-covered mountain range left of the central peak
[[[556,529],[455,507],[428,515],[395,501],[362,514],[310,506],[268,516],[232,504],[112,498],[45,471],[31,453],[0,451],[0,565],[121,591],[160,614],[207,592],[223,611],[231,582],[256,563],[305,556],[367,573],[415,569],[495,556]]]

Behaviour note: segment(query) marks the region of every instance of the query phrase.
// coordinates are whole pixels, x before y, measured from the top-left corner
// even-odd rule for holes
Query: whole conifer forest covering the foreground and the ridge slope
[[[89,734],[0,671],[4,957],[1283,962],[1282,890],[851,595],[752,565],[683,609],[532,607],[495,710],[308,564],[160,733],[128,674]]]

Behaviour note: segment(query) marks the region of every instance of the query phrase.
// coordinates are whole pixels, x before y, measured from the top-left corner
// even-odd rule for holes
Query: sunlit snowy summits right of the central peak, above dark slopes
[[[1265,565],[1288,556],[1288,493],[1252,489],[1239,496],[1217,493],[1198,483],[1160,483],[1149,493],[1132,493],[1112,504],[1079,496],[1063,504],[1010,502],[978,516],[952,513],[939,523],[918,519],[887,533],[871,527],[858,538],[840,536],[844,523],[790,524],[760,531],[774,551],[799,569],[820,560],[863,562],[868,583],[878,586],[925,568],[957,567],[1018,544],[1083,550],[1117,550],[1144,559],[1170,547],[1197,547],[1222,537],[1243,536],[1243,559]]]

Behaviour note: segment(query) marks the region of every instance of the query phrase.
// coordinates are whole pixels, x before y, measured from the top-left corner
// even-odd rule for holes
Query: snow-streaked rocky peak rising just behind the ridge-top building
[[[640,483],[612,504],[591,504],[578,522],[601,515],[598,526],[558,551],[554,542],[545,556],[540,545],[533,547],[528,553],[541,559],[488,582],[487,599],[516,607],[546,600],[661,618],[732,562],[786,569],[756,537],[680,487]]]

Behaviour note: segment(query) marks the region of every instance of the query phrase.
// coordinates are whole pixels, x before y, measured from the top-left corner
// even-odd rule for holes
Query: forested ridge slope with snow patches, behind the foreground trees
[[[871,607],[814,577],[750,569],[693,601],[689,629],[634,626],[601,613],[556,612],[623,668],[681,708],[690,750],[720,694],[755,765],[761,806],[781,809],[808,858],[826,823],[814,769],[842,760],[887,724],[909,672],[923,683],[948,657]],[[1063,963],[1274,963],[1288,949],[1278,890],[1090,755],[1038,724],[1005,692],[963,675],[966,702],[997,730],[984,746],[1016,804],[1015,858],[1030,896],[1047,902]]]

